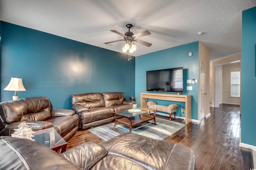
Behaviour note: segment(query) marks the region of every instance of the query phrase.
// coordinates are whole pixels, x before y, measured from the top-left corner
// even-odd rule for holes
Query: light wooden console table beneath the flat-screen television
[[[191,109],[191,95],[171,95],[160,93],[141,93],[140,105],[141,107],[148,107],[148,99],[168,100],[185,102],[185,123],[188,124],[192,120]]]

